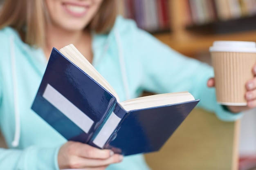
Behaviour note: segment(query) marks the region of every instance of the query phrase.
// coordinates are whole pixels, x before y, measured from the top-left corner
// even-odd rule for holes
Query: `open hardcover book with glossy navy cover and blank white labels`
[[[120,102],[70,44],[53,48],[31,108],[67,140],[133,155],[159,150],[198,102],[189,92]]]

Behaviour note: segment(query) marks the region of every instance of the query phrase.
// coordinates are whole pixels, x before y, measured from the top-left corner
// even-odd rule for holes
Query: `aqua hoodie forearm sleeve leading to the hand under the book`
[[[59,148],[31,146],[24,150],[0,148],[1,170],[59,170]]]

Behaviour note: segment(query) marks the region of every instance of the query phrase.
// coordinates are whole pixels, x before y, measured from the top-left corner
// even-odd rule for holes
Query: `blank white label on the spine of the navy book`
[[[106,141],[108,140],[112,132],[114,132],[120,121],[121,119],[117,117],[114,112],[112,112],[106,123],[99,131],[98,135],[93,140],[93,143],[100,148],[103,148],[104,144],[106,144]]]

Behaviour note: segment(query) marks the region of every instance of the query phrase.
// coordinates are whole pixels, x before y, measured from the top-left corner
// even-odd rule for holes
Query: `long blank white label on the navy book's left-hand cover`
[[[85,133],[88,133],[94,121],[50,84],[47,84],[43,97],[74,122]]]

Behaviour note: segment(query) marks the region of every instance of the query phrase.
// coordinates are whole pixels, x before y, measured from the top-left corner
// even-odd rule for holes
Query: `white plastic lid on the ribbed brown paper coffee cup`
[[[251,41],[215,41],[210,52],[256,53],[256,42]]]

